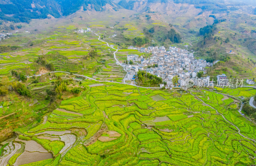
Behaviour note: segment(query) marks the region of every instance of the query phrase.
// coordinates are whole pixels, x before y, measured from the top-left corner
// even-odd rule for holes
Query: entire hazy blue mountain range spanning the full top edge
[[[256,14],[256,7],[249,6],[253,2],[245,4],[239,0],[0,0],[0,20],[29,23],[31,19],[46,19],[48,14],[60,18],[79,10],[102,12],[107,9],[117,11],[124,8],[137,12],[150,12],[150,6],[156,3],[194,5],[202,12],[210,11],[212,14],[235,10]]]

